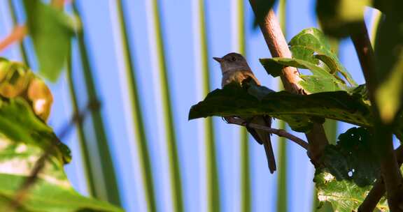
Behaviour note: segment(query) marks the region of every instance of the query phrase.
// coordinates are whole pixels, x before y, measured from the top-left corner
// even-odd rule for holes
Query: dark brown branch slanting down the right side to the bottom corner
[[[381,160],[381,176],[387,191],[389,209],[390,211],[403,211],[399,207],[403,195],[403,178],[393,150],[392,127],[381,121],[379,109],[374,98],[374,93],[379,84],[375,70],[374,50],[372,50],[364,21],[355,26],[354,29],[349,30],[369,91],[372,113],[375,116],[375,139],[372,143],[374,148],[377,149],[376,153]],[[381,185],[376,186],[380,187]]]

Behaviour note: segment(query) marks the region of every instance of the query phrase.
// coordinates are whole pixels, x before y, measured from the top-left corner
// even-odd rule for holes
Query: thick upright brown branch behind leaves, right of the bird
[[[257,8],[255,0],[249,0],[249,3],[256,13]],[[263,22],[259,23],[259,26],[263,33],[264,40],[266,40],[267,47],[269,47],[271,56],[286,58],[292,57],[287,41],[283,36],[280,24],[278,24],[278,20],[273,10],[269,10],[269,13],[264,17]],[[299,77],[297,68],[290,66],[284,67],[280,77],[286,91],[291,93],[309,94],[298,84],[302,79]],[[311,132],[306,133],[306,138],[310,144],[308,156],[311,158],[311,162],[314,165],[317,165],[325,146],[329,144],[323,126],[315,123]]]

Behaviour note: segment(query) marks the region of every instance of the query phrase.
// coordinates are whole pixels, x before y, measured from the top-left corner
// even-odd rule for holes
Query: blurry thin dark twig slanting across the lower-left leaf
[[[76,123],[82,123],[85,116],[93,110],[99,109],[99,102],[90,102],[87,107],[84,109],[83,112],[79,112],[78,114],[73,114],[69,122],[62,128],[62,131],[59,134],[59,139],[63,139],[69,132],[73,129]],[[20,209],[21,203],[24,199],[27,198],[27,194],[31,187],[36,183],[38,180],[38,174],[41,173],[43,168],[45,167],[45,162],[48,160],[48,157],[57,149],[57,144],[61,142],[57,137],[56,139],[52,140],[49,146],[45,149],[41,157],[36,160],[34,168],[31,170],[31,174],[29,177],[22,183],[20,188],[16,191],[15,197],[13,200],[10,201],[9,210],[8,211],[17,211]]]

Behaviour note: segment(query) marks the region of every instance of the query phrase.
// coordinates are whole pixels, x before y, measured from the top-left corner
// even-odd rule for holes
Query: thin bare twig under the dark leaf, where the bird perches
[[[248,127],[250,127],[250,128],[255,128],[257,130],[264,130],[264,131],[276,134],[279,137],[285,137],[285,138],[289,139],[290,141],[294,142],[295,144],[302,146],[302,148],[304,148],[304,149],[309,148],[309,144],[307,142],[305,142],[303,139],[300,139],[299,137],[297,137],[295,135],[288,133],[285,130],[269,128],[267,126],[261,126],[256,123],[246,123],[246,121],[243,121],[243,119],[238,119],[238,118],[233,118],[233,117],[226,117],[226,120],[227,120],[227,123],[233,123],[233,124],[236,124],[239,126],[248,125]]]

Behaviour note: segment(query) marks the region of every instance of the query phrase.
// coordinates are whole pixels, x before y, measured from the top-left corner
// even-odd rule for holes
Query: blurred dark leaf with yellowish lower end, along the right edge
[[[376,33],[375,60],[379,89],[376,103],[386,123],[395,121],[403,102],[403,1],[374,1],[385,13]]]

